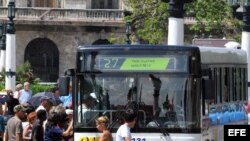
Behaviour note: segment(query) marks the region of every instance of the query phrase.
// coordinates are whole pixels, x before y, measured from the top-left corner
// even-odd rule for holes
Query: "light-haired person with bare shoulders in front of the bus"
[[[99,141],[113,141],[113,137],[108,130],[109,119],[107,116],[100,116],[96,120],[96,128],[102,132]]]

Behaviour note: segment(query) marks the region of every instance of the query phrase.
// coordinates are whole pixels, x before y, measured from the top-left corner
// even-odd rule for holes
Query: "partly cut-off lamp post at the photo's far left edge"
[[[4,71],[5,68],[5,57],[6,57],[6,30],[5,24],[0,24],[0,49],[1,49],[1,56],[0,56],[0,72]]]

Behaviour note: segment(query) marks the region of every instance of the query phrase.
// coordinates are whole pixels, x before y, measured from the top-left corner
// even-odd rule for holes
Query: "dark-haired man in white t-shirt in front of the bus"
[[[130,129],[135,126],[136,113],[132,109],[128,109],[124,114],[124,124],[122,124],[116,132],[116,141],[132,141]]]

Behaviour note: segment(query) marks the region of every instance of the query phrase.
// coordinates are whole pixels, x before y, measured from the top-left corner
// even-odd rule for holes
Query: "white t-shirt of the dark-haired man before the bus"
[[[116,141],[124,141],[125,137],[132,139],[130,128],[126,123],[118,128],[115,135]]]

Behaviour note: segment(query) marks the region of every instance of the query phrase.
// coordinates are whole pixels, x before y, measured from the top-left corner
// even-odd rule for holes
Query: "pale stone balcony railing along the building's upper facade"
[[[0,7],[0,19],[8,20],[7,7]],[[61,8],[16,8],[15,20],[20,23],[35,24],[44,22],[80,22],[80,23],[123,23],[123,10],[119,9],[61,9]],[[24,22],[26,21],[26,22]],[[194,18],[185,18],[185,23],[192,24]]]

